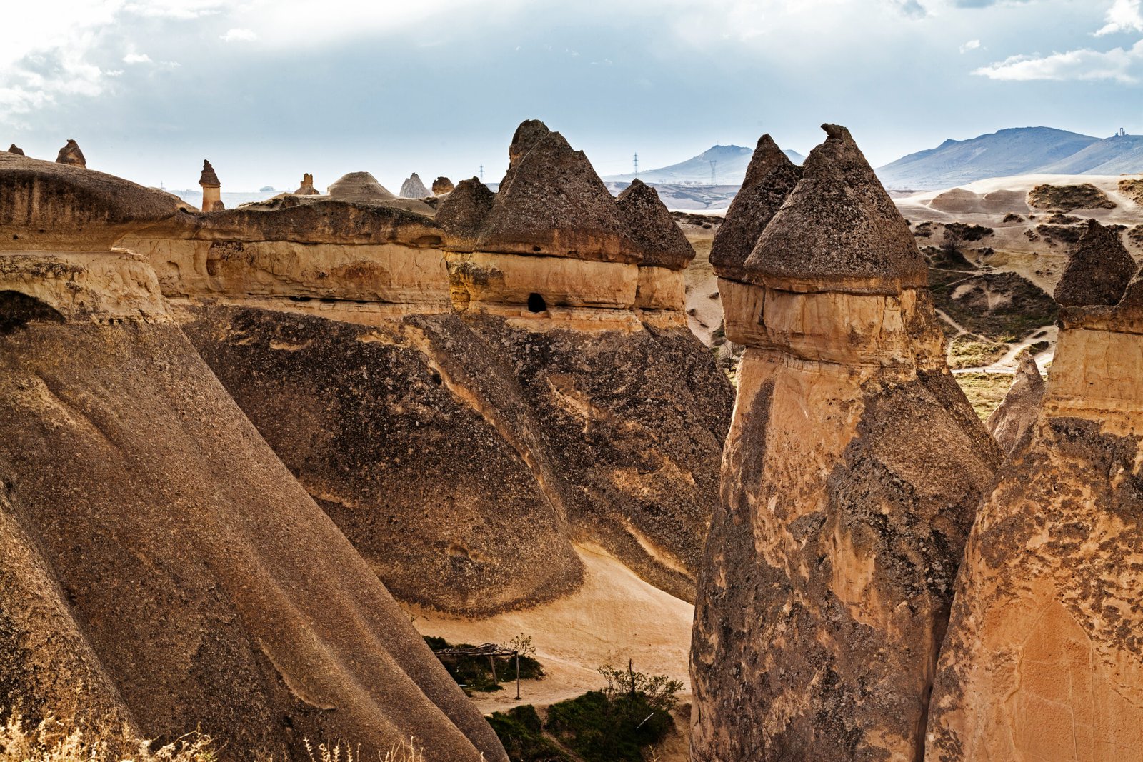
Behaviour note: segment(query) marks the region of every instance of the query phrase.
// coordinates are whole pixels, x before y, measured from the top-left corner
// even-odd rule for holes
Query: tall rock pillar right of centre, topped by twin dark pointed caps
[[[748,348],[696,600],[695,760],[919,760],[1000,458],[945,366],[904,219],[848,131],[825,130],[749,257],[721,252],[757,290],[727,321]],[[768,153],[759,175],[789,175],[761,171]]]

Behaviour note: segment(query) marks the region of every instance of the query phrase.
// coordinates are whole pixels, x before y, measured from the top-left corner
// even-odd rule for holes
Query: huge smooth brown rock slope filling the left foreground
[[[411,735],[433,759],[506,760],[147,259],[112,248],[187,216],[0,154],[0,704],[163,741],[200,727],[233,759]]]

